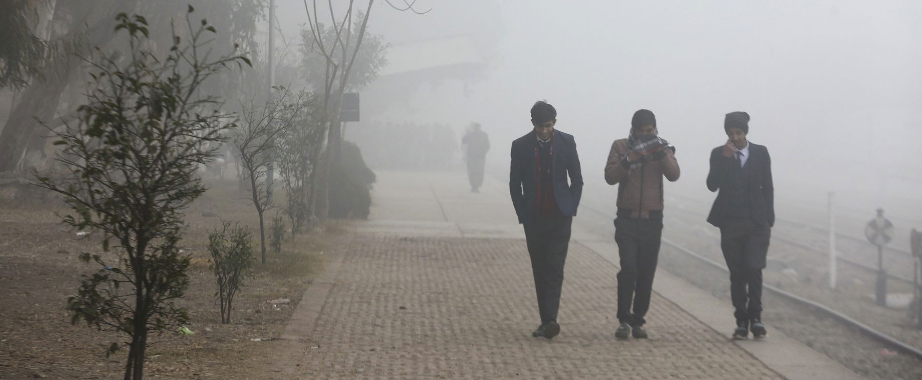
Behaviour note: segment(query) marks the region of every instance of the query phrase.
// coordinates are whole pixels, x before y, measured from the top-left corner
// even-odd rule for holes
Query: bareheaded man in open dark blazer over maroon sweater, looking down
[[[531,108],[533,129],[513,141],[509,194],[519,223],[525,226],[531,271],[538,293],[541,325],[532,337],[554,338],[561,332],[563,263],[570,227],[583,193],[583,175],[573,136],[555,130],[557,110],[546,101]],[[567,184],[567,176],[570,184]]]

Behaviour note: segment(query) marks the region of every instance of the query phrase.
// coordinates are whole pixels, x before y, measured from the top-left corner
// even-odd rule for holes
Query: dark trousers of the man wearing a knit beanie
[[[727,221],[720,228],[720,248],[730,269],[730,298],[737,321],[762,318],[762,268],[772,229],[751,218]]]

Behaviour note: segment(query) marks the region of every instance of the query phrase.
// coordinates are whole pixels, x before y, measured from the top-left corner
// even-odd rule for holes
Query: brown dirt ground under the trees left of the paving
[[[208,185],[206,195],[186,212],[189,228],[183,240],[183,248],[192,252],[193,267],[190,287],[178,303],[190,311],[186,326],[195,335],[167,332],[151,337],[155,343],[148,349],[147,378],[258,379],[275,371],[270,359],[276,345],[258,338],[278,338],[302,292],[324,267],[325,252],[343,249],[351,236],[351,223],[340,221],[286,240],[280,254],[270,252],[266,265],[256,265],[255,278],[235,299],[231,324],[222,325],[215,280],[207,265],[207,233],[220,220],[240,221],[254,232],[258,255],[258,220],[245,194],[236,191],[236,183]],[[277,196],[281,204],[283,197]],[[100,252],[100,239],[93,234],[77,238],[55,212],[66,209],[41,197],[0,197],[0,380],[121,378],[126,350],[108,358],[104,351],[125,337],[82,323],[71,325],[65,310],[81,275],[99,268],[82,263],[77,255]],[[290,302],[269,302],[278,299]]]

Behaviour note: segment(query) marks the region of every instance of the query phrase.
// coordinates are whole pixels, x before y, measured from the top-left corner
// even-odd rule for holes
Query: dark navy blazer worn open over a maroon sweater
[[[513,206],[519,223],[531,220],[538,210],[535,205],[535,144],[538,137],[535,131],[513,141],[509,164],[509,194],[513,197]],[[567,184],[567,174],[570,184]],[[576,215],[579,198],[583,195],[583,173],[580,172],[579,155],[576,154],[576,142],[572,135],[554,130],[554,155],[551,158],[551,175],[553,175],[554,200],[563,215]]]

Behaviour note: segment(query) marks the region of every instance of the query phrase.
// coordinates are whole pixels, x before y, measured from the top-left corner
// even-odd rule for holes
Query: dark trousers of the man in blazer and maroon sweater
[[[531,256],[531,272],[538,293],[541,323],[557,320],[561,305],[563,264],[570,244],[573,217],[535,217],[525,223],[525,239]]]

